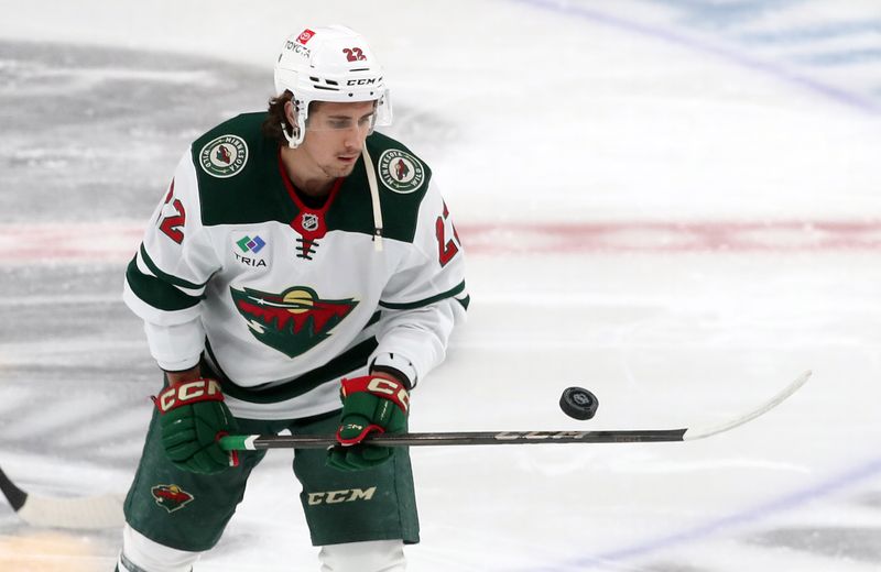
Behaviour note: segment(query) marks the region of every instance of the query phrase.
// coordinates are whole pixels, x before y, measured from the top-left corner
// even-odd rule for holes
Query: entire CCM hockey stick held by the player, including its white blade
[[[762,406],[741,415],[726,424],[715,427],[685,427],[681,429],[645,429],[618,431],[477,431],[442,433],[399,433],[376,435],[365,439],[365,443],[383,447],[461,446],[461,444],[539,444],[539,443],[640,443],[694,441],[729,431],[768,413],[798,391],[811,377],[811,371],[800,375],[794,382]],[[258,449],[324,449],[337,443],[333,435],[239,435],[220,439],[220,447],[227,451]]]

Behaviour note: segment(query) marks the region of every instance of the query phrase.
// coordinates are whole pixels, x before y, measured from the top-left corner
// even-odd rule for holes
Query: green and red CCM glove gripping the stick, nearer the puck
[[[406,429],[410,395],[404,384],[384,374],[342,380],[342,415],[327,463],[340,471],[359,471],[388,461],[394,452],[362,441],[370,433]]]

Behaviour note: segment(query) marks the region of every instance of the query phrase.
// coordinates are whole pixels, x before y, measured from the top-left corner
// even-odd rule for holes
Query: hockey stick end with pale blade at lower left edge
[[[122,526],[122,498],[97,495],[76,498],[25,493],[0,469],[0,491],[19,517],[33,526],[99,529]]]

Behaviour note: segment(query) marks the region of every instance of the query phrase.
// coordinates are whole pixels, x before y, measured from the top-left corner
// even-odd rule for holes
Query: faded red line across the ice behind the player
[[[881,250],[881,220],[491,222],[458,226],[476,255]],[[138,224],[6,224],[0,263],[124,262]]]

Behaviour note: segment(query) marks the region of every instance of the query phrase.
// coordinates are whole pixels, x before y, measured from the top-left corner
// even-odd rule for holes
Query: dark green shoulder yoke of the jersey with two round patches
[[[198,138],[191,148],[202,223],[290,223],[300,213],[281,173],[279,143],[263,134],[265,112],[237,116]],[[383,219],[383,237],[412,242],[431,168],[406,146],[381,133],[367,138]],[[373,234],[372,201],[363,158],[326,212],[328,231]]]

